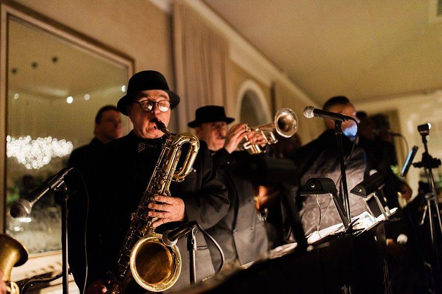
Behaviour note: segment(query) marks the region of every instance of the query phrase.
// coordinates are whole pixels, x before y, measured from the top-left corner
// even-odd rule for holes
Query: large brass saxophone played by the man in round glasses
[[[180,251],[176,245],[166,246],[162,235],[155,233],[152,222],[158,218],[147,215],[148,205],[155,203],[154,194],[170,195],[171,181],[181,182],[191,172],[199,141],[190,133],[172,136],[164,123],[158,120],[155,123],[156,129],[165,133],[166,141],[138,209],[132,214],[118,259],[108,273],[105,285],[109,294],[124,293],[131,275],[138,285],[148,291],[165,291],[175,284],[181,272]],[[181,147],[186,143],[190,145],[189,152],[183,166],[176,170]]]

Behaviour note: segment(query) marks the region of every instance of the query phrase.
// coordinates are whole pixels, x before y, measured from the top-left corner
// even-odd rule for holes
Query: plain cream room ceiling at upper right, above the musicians
[[[442,89],[436,0],[204,0],[319,104]]]

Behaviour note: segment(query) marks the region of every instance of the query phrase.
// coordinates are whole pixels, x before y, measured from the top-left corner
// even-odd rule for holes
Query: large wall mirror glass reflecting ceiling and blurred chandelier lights
[[[29,217],[13,219],[10,204],[64,168],[72,150],[91,141],[98,109],[116,105],[132,74],[132,61],[82,46],[87,42],[73,42],[67,33],[37,23],[7,14],[2,20],[7,43],[1,41],[7,49],[6,128],[1,132],[6,140],[6,154],[1,154],[6,157],[4,231],[31,254],[61,248],[60,206],[47,195]],[[122,120],[126,134],[130,123]]]

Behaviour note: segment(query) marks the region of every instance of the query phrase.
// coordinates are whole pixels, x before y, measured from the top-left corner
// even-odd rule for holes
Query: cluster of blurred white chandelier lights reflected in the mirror
[[[6,136],[6,156],[16,157],[28,170],[40,169],[53,157],[63,157],[72,152],[72,142],[46,137],[32,140],[30,136],[18,139]]]

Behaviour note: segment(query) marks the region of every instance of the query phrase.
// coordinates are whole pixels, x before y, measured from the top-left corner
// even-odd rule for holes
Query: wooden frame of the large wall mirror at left
[[[80,49],[85,49],[127,69],[128,80],[134,73],[134,59],[112,49],[72,28],[55,22],[26,6],[11,0],[0,0],[0,233],[6,227],[6,131],[7,131],[7,45],[8,24],[13,20],[23,25],[54,35]]]

